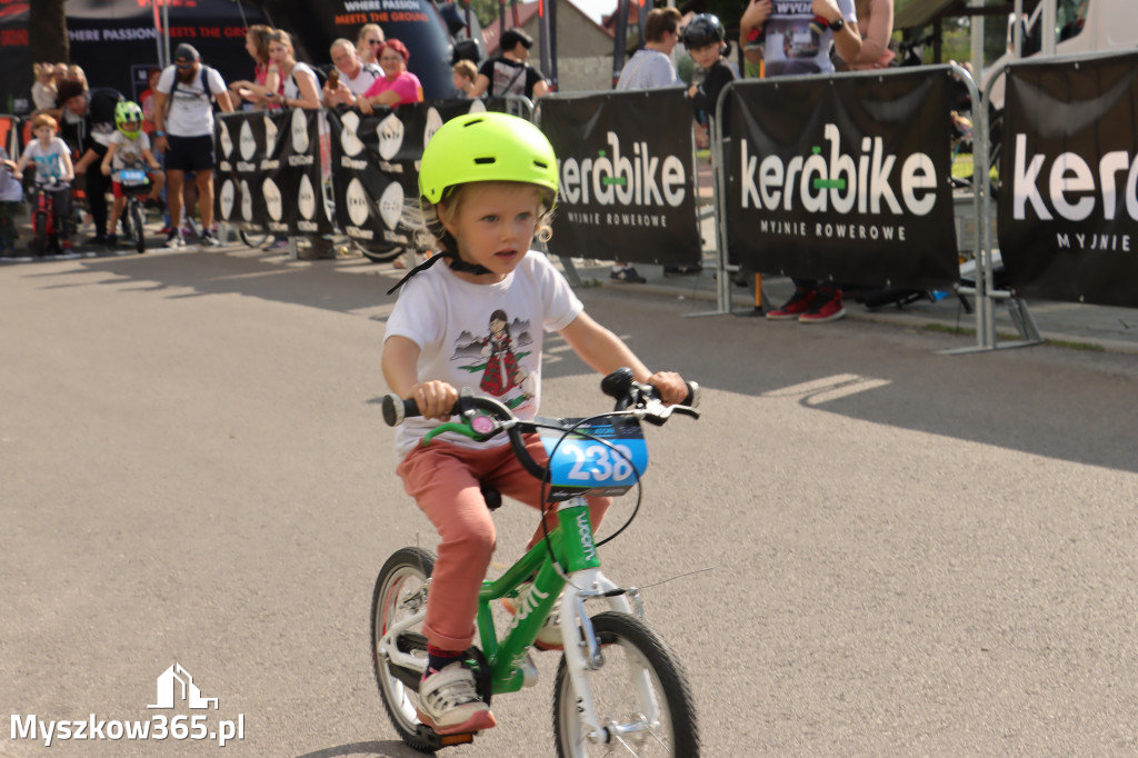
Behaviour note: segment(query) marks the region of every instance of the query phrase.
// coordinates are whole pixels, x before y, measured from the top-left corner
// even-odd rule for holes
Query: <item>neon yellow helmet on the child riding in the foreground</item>
[[[528,182],[558,192],[558,158],[537,126],[504,113],[457,116],[435,132],[419,168],[419,193],[436,204],[468,182]]]

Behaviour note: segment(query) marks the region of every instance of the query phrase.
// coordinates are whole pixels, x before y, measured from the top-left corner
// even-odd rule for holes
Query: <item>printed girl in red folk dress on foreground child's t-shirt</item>
[[[521,348],[531,344],[529,322],[510,323],[505,311],[498,310],[490,314],[487,333],[475,336],[464,331],[459,336],[452,360],[476,359],[460,368],[480,373],[479,389],[517,409],[534,396],[534,379],[521,363],[531,352]]]

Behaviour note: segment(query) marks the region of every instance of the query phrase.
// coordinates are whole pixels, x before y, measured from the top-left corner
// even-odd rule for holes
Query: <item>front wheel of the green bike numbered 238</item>
[[[605,743],[589,742],[580,719],[577,694],[564,656],[558,664],[553,684],[553,739],[559,758],[586,756],[677,756],[698,758],[699,725],[687,678],[676,654],[646,624],[616,611],[592,618],[593,632],[601,645],[604,664],[588,672],[593,705],[602,724],[628,727],[622,735],[610,733]],[[661,712],[649,724],[649,710],[637,694],[634,677],[649,675],[653,699]],[[642,731],[634,731],[641,725]]]

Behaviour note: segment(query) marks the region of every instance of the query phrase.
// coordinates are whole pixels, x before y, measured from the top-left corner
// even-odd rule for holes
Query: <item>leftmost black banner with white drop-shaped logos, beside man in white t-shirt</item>
[[[327,234],[320,114],[263,110],[216,120],[217,219],[278,234]]]

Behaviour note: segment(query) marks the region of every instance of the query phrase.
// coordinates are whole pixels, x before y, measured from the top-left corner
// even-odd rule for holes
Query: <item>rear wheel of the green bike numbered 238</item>
[[[409,598],[419,595],[431,572],[435,570],[434,553],[421,547],[403,547],[397,550],[384,563],[376,579],[376,591],[371,598],[371,661],[376,672],[376,684],[384,709],[407,745],[421,752],[436,752],[443,748],[440,738],[424,726],[415,711],[412,693],[394,667],[380,656],[379,641],[384,632],[403,615],[403,608]],[[421,595],[424,598],[424,595]],[[426,601],[423,601],[426,602]],[[406,642],[417,653],[421,652],[426,666],[427,638],[421,631],[409,631],[401,635],[401,643]],[[403,672],[404,677],[410,672]],[[418,673],[413,673],[418,676]]]

